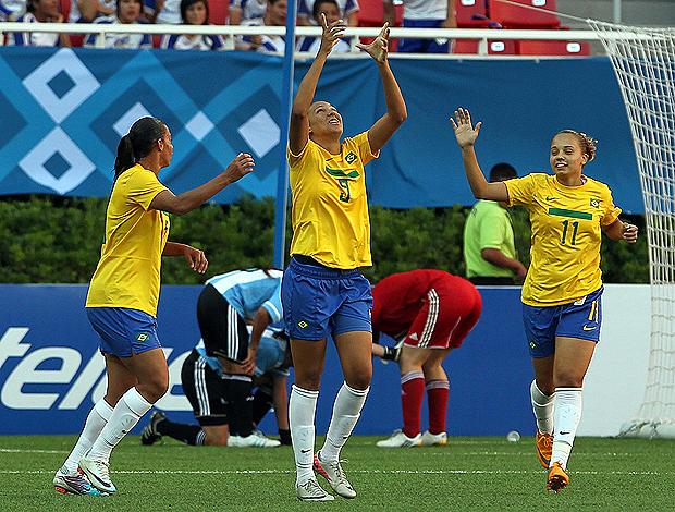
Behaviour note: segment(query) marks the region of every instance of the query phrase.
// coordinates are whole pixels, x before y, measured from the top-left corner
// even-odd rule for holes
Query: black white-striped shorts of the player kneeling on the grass
[[[183,363],[181,381],[183,392],[189,400],[199,425],[209,427],[228,425],[226,381],[211,369],[196,350],[193,350]]]

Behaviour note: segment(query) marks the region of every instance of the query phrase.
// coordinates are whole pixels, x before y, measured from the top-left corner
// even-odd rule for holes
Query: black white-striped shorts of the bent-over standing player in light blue
[[[235,363],[248,355],[246,321],[211,284],[207,284],[197,301],[197,321],[206,353]]]

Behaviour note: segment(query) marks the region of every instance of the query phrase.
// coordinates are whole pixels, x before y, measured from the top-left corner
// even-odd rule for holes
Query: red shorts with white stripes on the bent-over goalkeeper
[[[476,326],[482,310],[482,298],[468,281],[452,290],[432,289],[415,317],[404,343],[419,349],[449,349],[462,342]]]

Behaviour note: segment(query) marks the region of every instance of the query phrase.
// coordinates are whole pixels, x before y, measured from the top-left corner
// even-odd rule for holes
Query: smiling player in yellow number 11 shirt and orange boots
[[[549,470],[547,488],[569,483],[567,460],[581,417],[584,377],[602,321],[601,232],[636,242],[638,229],[618,219],[610,188],[582,174],[594,141],[563,130],[551,143],[554,175],[529,174],[488,183],[478,166],[468,110],[451,118],[474,196],[524,205],[532,224],[530,268],[523,285],[523,318],[535,367],[530,386],[537,452]]]

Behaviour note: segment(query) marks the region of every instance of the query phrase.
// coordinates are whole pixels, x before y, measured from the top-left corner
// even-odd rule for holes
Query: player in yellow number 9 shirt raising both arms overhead
[[[289,163],[293,193],[293,258],[282,280],[282,304],[295,364],[289,419],[300,500],[334,499],[317,483],[312,466],[335,492],[356,497],[340,465],[366,401],[372,377],[370,283],[358,267],[370,266],[370,220],[364,166],[407,117],[401,89],[389,68],[389,26],[370,45],[357,45],[377,62],[386,112],[370,130],[342,137],[342,117],[314,95],[326,59],[343,35],[342,20],[321,17],[321,46],[303,78],[291,112]],[[333,337],[345,382],[333,405],[326,443],[315,455],[315,411],[327,338]]]

